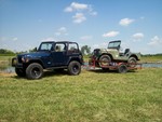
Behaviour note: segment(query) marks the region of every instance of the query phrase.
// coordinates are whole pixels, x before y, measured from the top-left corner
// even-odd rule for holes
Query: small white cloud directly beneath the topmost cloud
[[[86,21],[86,17],[84,16],[83,13],[76,13],[76,15],[72,16],[72,18],[73,18],[73,23],[77,23],[77,24],[80,24],[80,23]]]

